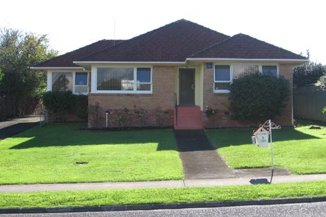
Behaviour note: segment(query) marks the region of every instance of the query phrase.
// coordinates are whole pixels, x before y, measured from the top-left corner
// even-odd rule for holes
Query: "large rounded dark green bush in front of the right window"
[[[282,77],[254,73],[233,80],[230,92],[232,119],[264,121],[282,113],[290,86]]]

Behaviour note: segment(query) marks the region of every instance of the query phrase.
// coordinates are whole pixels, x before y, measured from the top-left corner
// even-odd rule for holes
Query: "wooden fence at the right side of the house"
[[[326,90],[319,87],[300,87],[293,89],[293,115],[297,118],[326,122]]]

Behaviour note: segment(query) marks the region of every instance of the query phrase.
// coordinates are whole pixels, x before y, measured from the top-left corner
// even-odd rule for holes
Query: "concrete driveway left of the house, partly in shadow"
[[[40,122],[40,116],[28,116],[0,122],[0,140],[24,132]]]

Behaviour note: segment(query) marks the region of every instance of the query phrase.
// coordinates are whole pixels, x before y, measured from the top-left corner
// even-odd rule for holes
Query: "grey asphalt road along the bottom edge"
[[[8,214],[1,217],[139,217],[139,216],[277,216],[277,217],[304,217],[304,216],[326,216],[326,202],[289,204],[289,205],[264,205],[264,206],[246,206],[246,207],[220,207],[205,209],[167,209],[167,210],[151,210],[151,211],[110,211],[110,212],[85,212],[85,213],[66,213],[66,214]]]

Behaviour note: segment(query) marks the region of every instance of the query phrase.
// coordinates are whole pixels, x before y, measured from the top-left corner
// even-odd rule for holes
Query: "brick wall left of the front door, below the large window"
[[[110,111],[109,124],[114,127],[172,126],[174,71],[153,67],[153,94],[89,94],[88,105],[99,105],[98,119],[96,112],[89,114],[89,128],[105,127],[105,111]]]

